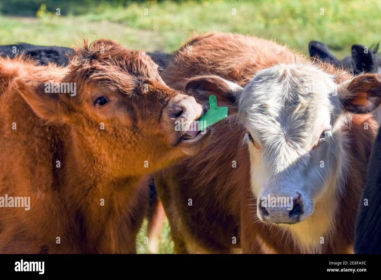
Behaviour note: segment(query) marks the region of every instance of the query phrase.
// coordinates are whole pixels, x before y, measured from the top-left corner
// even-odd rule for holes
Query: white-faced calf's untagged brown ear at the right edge
[[[347,85],[339,88],[341,103],[348,112],[365,114],[381,103],[379,74],[360,74]]]

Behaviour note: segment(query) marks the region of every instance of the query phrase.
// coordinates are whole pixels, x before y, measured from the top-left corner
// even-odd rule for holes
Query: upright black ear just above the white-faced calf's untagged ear
[[[352,61],[355,75],[373,72],[375,69],[375,55],[366,46],[358,44],[352,46]]]

